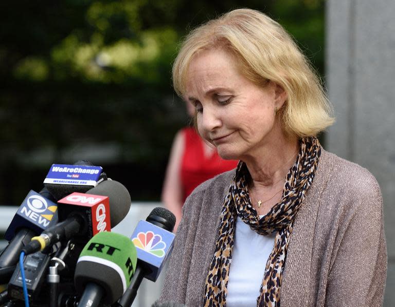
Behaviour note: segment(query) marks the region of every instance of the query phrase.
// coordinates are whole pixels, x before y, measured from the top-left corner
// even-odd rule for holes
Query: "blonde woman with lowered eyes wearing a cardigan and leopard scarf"
[[[160,299],[381,306],[380,187],[321,147],[331,106],[290,35],[258,11],[231,11],[186,37],[173,83],[200,135],[240,162],[187,198]]]

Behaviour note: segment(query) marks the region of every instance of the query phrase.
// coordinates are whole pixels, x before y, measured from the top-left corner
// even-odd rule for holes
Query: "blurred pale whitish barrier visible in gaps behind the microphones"
[[[153,208],[162,206],[159,202],[132,202],[128,215],[116,225],[112,231],[130,237],[137,226],[139,220],[145,220]],[[17,206],[0,206],[0,233],[4,233],[14,217]],[[3,246],[7,242],[3,240]],[[136,299],[133,302],[133,307],[148,307],[159,298],[160,291],[165,278],[166,267],[161,272],[158,280],[152,282],[148,279],[143,279]]]

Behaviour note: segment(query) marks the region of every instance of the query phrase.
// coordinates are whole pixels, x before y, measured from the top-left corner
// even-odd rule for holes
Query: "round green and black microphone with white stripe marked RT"
[[[94,236],[76,266],[74,284],[82,294],[78,306],[114,303],[129,286],[136,263],[136,248],[128,237],[109,232]]]

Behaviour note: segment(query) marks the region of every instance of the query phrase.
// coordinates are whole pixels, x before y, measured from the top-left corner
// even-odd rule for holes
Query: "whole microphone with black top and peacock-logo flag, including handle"
[[[156,207],[140,220],[131,237],[137,250],[137,267],[127,291],[117,306],[129,307],[144,277],[156,281],[173,249],[175,216],[168,209]]]

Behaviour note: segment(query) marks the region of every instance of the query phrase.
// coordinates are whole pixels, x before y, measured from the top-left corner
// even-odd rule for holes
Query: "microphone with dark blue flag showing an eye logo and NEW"
[[[58,221],[57,204],[43,195],[47,195],[45,189],[40,193],[30,190],[17,210],[4,236],[9,244],[0,256],[0,268],[14,266],[19,260],[22,248],[31,238]],[[0,275],[3,278],[3,274]]]

